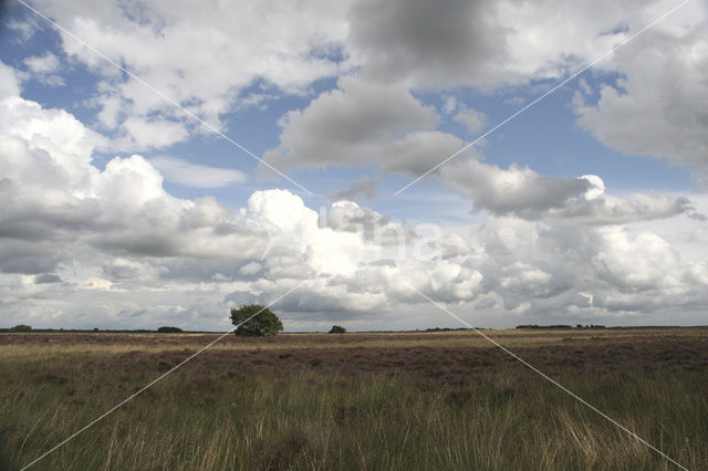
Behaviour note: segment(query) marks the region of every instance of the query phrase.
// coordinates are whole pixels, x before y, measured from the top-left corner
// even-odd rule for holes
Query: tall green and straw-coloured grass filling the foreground
[[[19,469],[156,370],[0,360],[0,468]],[[95,359],[95,358],[94,358]],[[94,366],[91,366],[94,365]],[[708,469],[702,370],[559,378],[689,469]],[[184,369],[33,469],[676,469],[548,383],[516,369],[467,387],[406,375]]]

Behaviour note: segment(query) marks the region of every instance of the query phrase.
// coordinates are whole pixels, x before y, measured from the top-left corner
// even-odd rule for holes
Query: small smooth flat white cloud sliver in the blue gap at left
[[[192,188],[222,188],[247,180],[246,175],[239,170],[207,167],[171,157],[152,157],[149,163],[167,181]]]

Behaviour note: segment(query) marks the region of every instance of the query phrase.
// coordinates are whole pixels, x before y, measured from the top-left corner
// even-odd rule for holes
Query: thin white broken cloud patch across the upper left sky
[[[341,49],[346,35],[347,2],[263,9],[258,1],[231,7],[216,1],[199,6],[108,1],[98,7],[42,0],[34,7],[219,128],[223,127],[221,116],[233,107],[283,93],[304,93],[314,80],[348,69],[332,52]],[[103,78],[94,96],[103,108],[102,122],[133,143],[133,150],[143,150],[149,135],[137,135],[142,128],[126,118],[149,122],[148,117],[159,113],[180,124],[181,112],[173,105],[60,34],[63,53]],[[189,130],[206,130],[189,125]],[[162,134],[163,139],[180,137]],[[163,140],[147,142],[148,146],[157,144]]]

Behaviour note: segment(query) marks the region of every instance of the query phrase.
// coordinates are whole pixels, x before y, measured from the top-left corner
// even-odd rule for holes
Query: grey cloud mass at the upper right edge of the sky
[[[688,3],[615,53],[616,84],[575,97],[582,128],[624,154],[667,158],[708,184],[708,9]],[[595,91],[592,91],[595,92]]]

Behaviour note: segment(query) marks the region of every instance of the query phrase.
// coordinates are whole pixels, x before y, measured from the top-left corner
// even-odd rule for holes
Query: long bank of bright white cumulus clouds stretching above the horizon
[[[138,155],[94,167],[101,136],[67,113],[17,96],[0,106],[19,117],[0,119],[0,312],[11,322],[221,328],[233,303],[268,303],[296,286],[278,308],[301,328],[437,324],[410,285],[456,308],[525,318],[646,315],[706,301],[708,268],[686,264],[659,234],[552,217],[610,205],[595,176],[548,182],[465,163],[456,174],[486,171],[476,185],[501,188],[485,190],[498,196],[481,200],[491,216],[465,233],[410,227],[351,201],[317,213],[287,190],[256,191],[232,211],[215,198],[169,195]],[[402,317],[409,307],[415,321]]]

